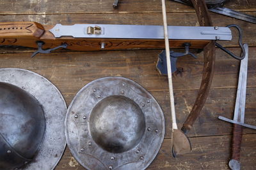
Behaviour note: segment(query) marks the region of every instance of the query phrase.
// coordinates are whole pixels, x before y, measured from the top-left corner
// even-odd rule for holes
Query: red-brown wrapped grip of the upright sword
[[[234,124],[233,137],[232,137],[232,159],[240,160],[240,150],[242,143],[243,127],[241,125]]]

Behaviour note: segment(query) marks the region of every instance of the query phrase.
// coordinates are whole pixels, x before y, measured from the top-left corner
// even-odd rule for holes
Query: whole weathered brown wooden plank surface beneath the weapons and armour
[[[161,1],[121,0],[118,10],[113,0],[1,0],[0,22],[35,21],[41,24],[141,24],[161,25]],[[195,11],[189,6],[166,1],[169,25],[198,25]],[[235,0],[226,7],[256,15],[256,1]],[[256,125],[256,25],[211,13],[214,25],[238,24],[244,30],[244,42],[250,46],[247,124]],[[221,42],[239,54],[237,36]],[[232,125],[218,120],[218,115],[232,118],[236,99],[239,61],[216,50],[216,71],[202,115],[196,120],[189,138],[193,150],[173,158],[170,148],[172,128],[168,98],[168,80],[156,69],[161,50],[122,50],[111,52],[71,52],[61,50],[39,54],[31,59],[31,48],[0,48],[0,67],[19,67],[35,71],[50,80],[63,94],[67,105],[87,83],[103,76],[124,76],[145,87],[161,105],[166,120],[166,135],[156,159],[148,169],[228,169]],[[186,119],[195,101],[202,76],[202,53],[198,59],[182,57],[182,73],[173,76],[178,126]],[[242,169],[256,169],[256,131],[244,129],[241,148]],[[47,164],[47,162],[45,162]],[[56,169],[84,169],[67,149]]]

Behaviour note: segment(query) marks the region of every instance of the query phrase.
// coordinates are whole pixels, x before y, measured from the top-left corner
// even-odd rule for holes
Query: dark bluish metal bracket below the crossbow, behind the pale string
[[[191,46],[190,43],[184,43],[183,46],[185,47],[184,53],[170,51],[172,73],[177,71],[176,62],[177,62],[178,57],[182,57],[184,55],[191,55],[195,59],[197,58],[195,54],[189,52],[189,46]],[[156,67],[160,74],[167,74],[167,62],[166,62],[166,51],[165,50],[163,50],[161,53],[159,53]]]

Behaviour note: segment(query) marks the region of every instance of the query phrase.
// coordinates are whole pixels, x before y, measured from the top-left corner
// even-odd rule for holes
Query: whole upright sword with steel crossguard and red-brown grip
[[[228,163],[228,166],[232,170],[240,169],[240,150],[241,150],[241,141],[243,135],[243,126],[256,129],[254,125],[244,124],[244,111],[245,111],[245,99],[246,99],[246,81],[247,81],[247,67],[248,67],[248,45],[244,44],[245,57],[241,60],[240,71],[239,71],[239,80],[237,85],[237,94],[236,94],[236,106],[234,111],[234,118],[230,120],[225,117],[218,117],[221,120],[225,120],[234,124],[233,129],[233,138],[232,138],[232,157]]]

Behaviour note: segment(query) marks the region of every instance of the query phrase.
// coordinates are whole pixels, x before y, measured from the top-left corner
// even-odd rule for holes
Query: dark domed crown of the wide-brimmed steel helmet
[[[38,152],[45,134],[44,110],[15,85],[0,82],[0,94],[0,169],[14,169]]]

